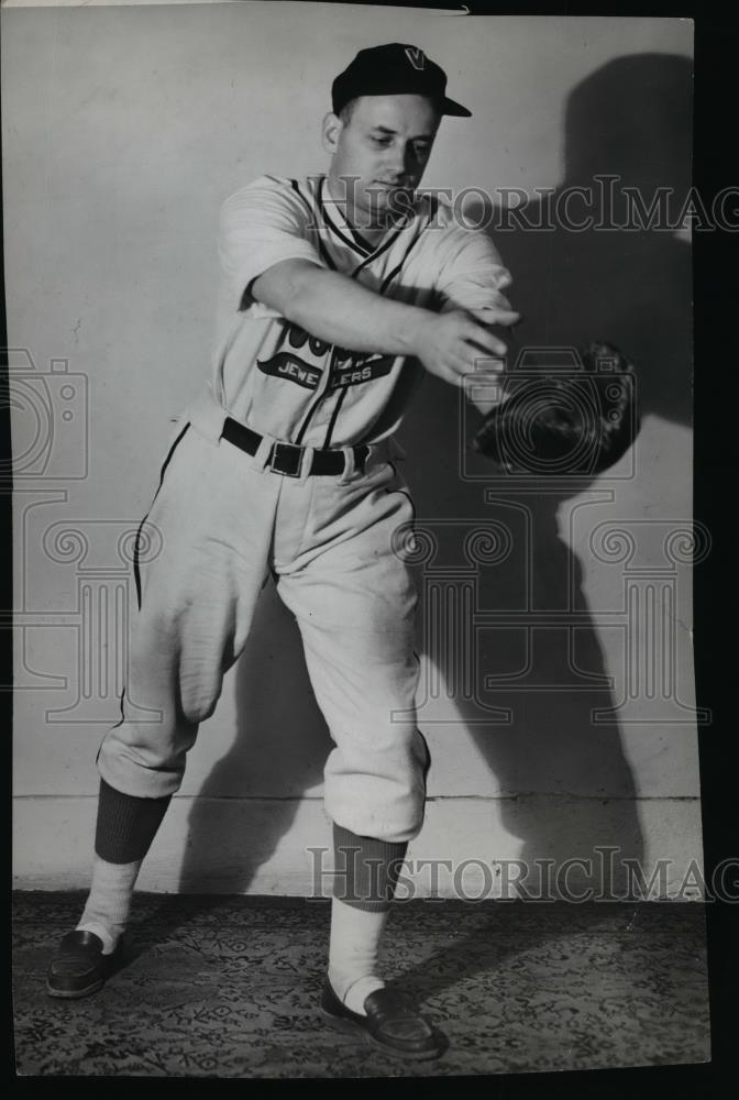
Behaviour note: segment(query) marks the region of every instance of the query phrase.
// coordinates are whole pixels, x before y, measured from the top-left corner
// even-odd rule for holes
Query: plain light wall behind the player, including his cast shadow
[[[172,418],[210,367],[223,198],[263,172],[323,170],[331,80],[383,41],[424,48],[474,112],[444,121],[424,186],[533,194],[613,173],[648,193],[685,189],[692,25],[250,3],[5,9],[2,32],[22,452],[15,875],[56,888],[86,883],[95,755],[118,717],[112,681],[99,679],[106,660],[88,683],[85,647],[110,654],[110,624],[133,598],[125,532],[147,510]],[[525,316],[520,340],[622,346],[639,372],[642,431],[608,477],[575,493],[516,487],[465,452],[474,413],[424,381],[400,433],[419,526],[437,544],[418,565],[419,721],[433,769],[410,855],[565,859],[613,845],[648,866],[672,859],[674,893],[701,860],[681,535],[690,246],[665,232],[496,242]],[[52,360],[68,361],[73,396]],[[54,408],[52,427],[38,400]],[[470,559],[473,529],[492,541]],[[490,685],[492,674],[505,682]],[[329,837],[328,748],[297,629],[267,590],[142,888],[308,892],[306,846]]]

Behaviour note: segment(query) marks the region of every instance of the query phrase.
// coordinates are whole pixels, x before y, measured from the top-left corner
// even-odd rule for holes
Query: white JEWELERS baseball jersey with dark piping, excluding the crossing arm
[[[368,244],[342,215],[326,176],[261,176],[223,202],[221,287],[212,391],[255,431],[315,448],[391,436],[423,375],[413,358],[355,352],[319,340],[251,296],[285,260],[307,260],[429,309],[508,308],[510,275],[489,238],[418,193],[402,219]]]

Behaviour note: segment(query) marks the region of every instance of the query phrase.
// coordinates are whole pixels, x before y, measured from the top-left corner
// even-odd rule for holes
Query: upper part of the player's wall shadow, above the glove
[[[637,369],[642,417],[682,425],[692,422],[692,271],[691,249],[675,235],[674,222],[691,189],[692,94],[686,57],[637,54],[609,62],[567,100],[562,185],[522,211],[525,227],[554,228],[521,229],[499,210],[470,211],[472,224],[489,224],[514,275],[520,341],[616,344]],[[591,205],[576,188],[592,194]],[[644,218],[631,216],[625,189],[649,211],[658,188],[665,191],[669,217],[660,229],[657,221],[639,229]],[[588,215],[591,228],[566,228],[567,220],[583,223]],[[624,224],[633,228],[598,228]]]

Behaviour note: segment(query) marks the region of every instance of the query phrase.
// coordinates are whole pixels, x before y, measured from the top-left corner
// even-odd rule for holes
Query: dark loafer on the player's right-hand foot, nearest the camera
[[[326,979],[321,1009],[333,1020],[357,1024],[371,1043],[407,1058],[438,1058],[444,1052],[443,1037],[406,998],[394,989],[376,989],[364,1002],[366,1016],[352,1012],[339,1000]]]

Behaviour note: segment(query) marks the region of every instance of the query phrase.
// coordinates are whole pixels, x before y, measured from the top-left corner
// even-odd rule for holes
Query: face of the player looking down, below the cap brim
[[[440,121],[430,100],[406,95],[362,96],[346,123],[327,117],[329,186],[334,197],[345,194],[346,215],[357,228],[382,226],[394,207],[402,208],[404,196],[412,196]]]

